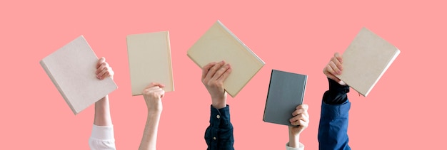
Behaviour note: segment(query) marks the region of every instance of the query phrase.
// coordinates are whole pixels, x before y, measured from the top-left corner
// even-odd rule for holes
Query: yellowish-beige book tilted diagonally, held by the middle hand
[[[225,60],[233,71],[224,82],[224,88],[231,97],[258,73],[265,64],[261,58],[242,43],[228,28],[216,21],[188,50],[188,56],[200,68],[211,62]]]

